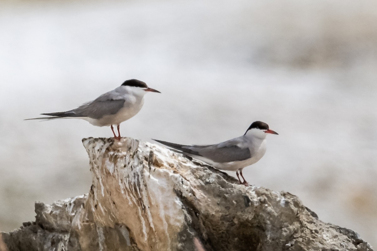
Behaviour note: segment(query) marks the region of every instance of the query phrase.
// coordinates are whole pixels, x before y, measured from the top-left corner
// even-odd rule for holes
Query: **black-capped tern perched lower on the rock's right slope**
[[[214,145],[179,145],[166,141],[155,141],[179,150],[181,153],[202,160],[209,165],[227,171],[236,171],[240,184],[248,185],[242,169],[260,160],[266,152],[267,134],[277,134],[268,124],[255,121],[244,135]],[[239,174],[244,181],[241,181]]]

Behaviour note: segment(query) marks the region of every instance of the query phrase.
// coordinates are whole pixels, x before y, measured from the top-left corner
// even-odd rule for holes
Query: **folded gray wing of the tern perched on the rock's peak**
[[[117,113],[123,107],[124,102],[124,97],[118,92],[110,91],[76,109],[67,112],[42,113],[42,115],[100,119],[105,115]]]

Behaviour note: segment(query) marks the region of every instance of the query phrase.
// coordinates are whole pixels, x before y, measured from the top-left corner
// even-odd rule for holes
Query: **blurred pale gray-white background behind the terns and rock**
[[[377,2],[2,1],[0,34],[0,231],[88,192],[81,139],[112,136],[23,119],[136,78],[162,93],[123,136],[210,144],[267,122],[247,180],[377,246]]]

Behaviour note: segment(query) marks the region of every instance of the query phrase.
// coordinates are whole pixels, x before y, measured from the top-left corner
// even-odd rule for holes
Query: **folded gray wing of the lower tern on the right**
[[[179,145],[166,141],[155,141],[187,154],[205,157],[217,163],[241,161],[251,158],[249,148],[239,138],[215,145]]]

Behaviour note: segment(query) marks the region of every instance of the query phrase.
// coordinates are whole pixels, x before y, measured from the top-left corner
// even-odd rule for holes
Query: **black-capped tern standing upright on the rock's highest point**
[[[31,119],[80,118],[94,126],[110,126],[114,138],[120,140],[120,123],[132,118],[140,111],[144,104],[144,95],[147,92],[159,91],[149,88],[143,81],[130,79],[124,81],[121,86],[76,109],[67,112],[41,113],[41,115],[48,115],[49,117]],[[113,125],[117,126],[118,136],[115,135]]]

